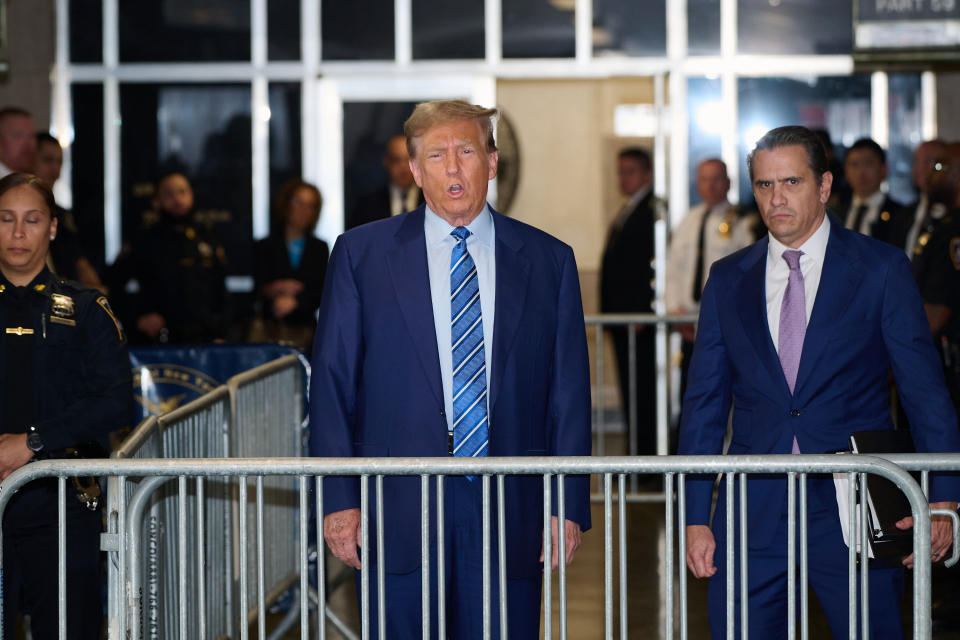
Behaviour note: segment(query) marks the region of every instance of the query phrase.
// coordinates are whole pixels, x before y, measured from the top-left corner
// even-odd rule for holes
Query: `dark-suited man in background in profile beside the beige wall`
[[[600,267],[600,311],[649,313],[653,309],[653,164],[650,154],[630,147],[617,158],[620,193],[627,199],[610,225]],[[617,356],[620,401],[625,421],[630,411],[630,353],[626,327],[610,329]],[[652,327],[640,326],[636,335],[637,447],[632,454],[657,452],[656,362]]]

